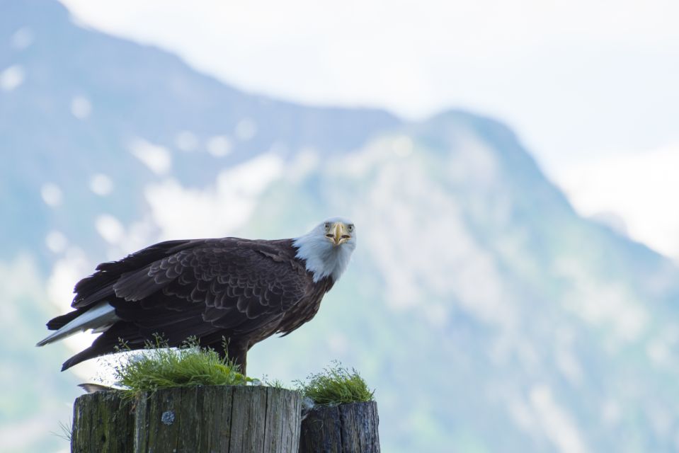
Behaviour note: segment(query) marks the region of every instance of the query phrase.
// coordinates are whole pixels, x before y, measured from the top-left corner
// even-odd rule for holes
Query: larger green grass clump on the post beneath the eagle
[[[123,344],[121,351],[126,349]],[[246,385],[253,379],[238,372],[232,362],[219,357],[212,349],[203,349],[198,340],[189,338],[179,348],[168,348],[156,337],[143,352],[120,357],[113,366],[116,384],[136,395],[169,387],[198,385]]]

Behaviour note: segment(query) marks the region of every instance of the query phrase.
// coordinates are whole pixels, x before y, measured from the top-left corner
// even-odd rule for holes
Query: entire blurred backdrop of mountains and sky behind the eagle
[[[677,451],[678,15],[0,0],[2,451],[67,451],[93,337],[33,345],[97,263],[333,215],[353,263],[253,377],[356,367],[384,452]]]

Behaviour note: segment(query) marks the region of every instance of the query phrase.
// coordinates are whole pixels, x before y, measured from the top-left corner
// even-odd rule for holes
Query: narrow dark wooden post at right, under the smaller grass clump
[[[302,420],[299,453],[379,453],[377,403],[314,408]]]

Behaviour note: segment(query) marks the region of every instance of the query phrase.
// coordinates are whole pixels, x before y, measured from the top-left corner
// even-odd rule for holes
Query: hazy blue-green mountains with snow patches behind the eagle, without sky
[[[356,367],[386,452],[674,451],[678,269],[578,217],[501,122],[277,101],[81,28],[54,1],[3,11],[9,451],[66,447],[48,432],[84,378],[59,374],[66,346],[33,344],[96,263],[336,214],[357,225],[348,273],[314,321],[253,348],[253,376]]]

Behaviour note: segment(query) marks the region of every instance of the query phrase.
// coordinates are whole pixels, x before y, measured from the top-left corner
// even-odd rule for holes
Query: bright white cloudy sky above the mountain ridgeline
[[[675,0],[62,2],[249,91],[496,116],[583,214],[615,212],[635,239],[679,257],[679,178],[654,174],[679,153]],[[627,202],[630,191],[644,202]]]

